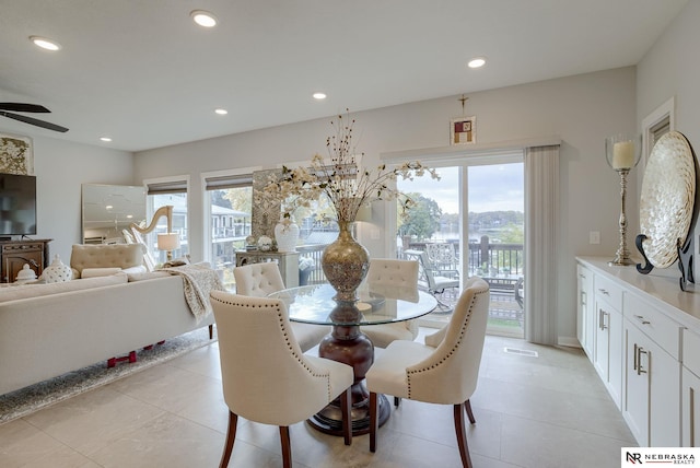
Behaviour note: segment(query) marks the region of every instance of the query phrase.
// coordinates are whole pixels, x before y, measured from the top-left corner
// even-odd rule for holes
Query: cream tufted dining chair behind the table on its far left
[[[284,280],[277,264],[271,261],[248,264],[233,269],[236,280],[236,294],[265,297],[284,289]],[[302,348],[308,351],[330,332],[330,326],[312,324],[291,324],[292,332]]]

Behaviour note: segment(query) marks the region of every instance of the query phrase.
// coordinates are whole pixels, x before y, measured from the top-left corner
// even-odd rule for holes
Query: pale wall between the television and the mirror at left
[[[1,129],[0,129],[1,130]],[[133,154],[32,134],[37,191],[37,235],[51,238],[49,253],[65,264],[82,242],[81,185],[133,183]],[[15,132],[16,134],[16,132]]]

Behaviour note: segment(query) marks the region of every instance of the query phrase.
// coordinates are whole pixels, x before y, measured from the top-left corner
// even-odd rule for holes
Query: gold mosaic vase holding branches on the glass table
[[[355,301],[355,291],[370,268],[370,253],[352,237],[350,223],[338,221],[340,233],[320,257],[326,279],[336,290],[337,301]]]

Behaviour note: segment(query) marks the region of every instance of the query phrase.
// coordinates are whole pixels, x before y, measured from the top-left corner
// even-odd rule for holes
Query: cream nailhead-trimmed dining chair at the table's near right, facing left
[[[454,406],[462,465],[471,467],[464,422],[475,423],[469,398],[477,387],[489,313],[489,285],[481,278],[466,281],[450,319],[440,331],[417,341],[394,341],[366,373],[370,390],[370,452],[376,451],[377,394]]]

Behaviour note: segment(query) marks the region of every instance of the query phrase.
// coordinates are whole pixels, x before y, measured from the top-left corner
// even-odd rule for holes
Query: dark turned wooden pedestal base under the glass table
[[[364,375],[374,362],[374,346],[360,331],[357,325],[334,325],[332,332],[326,336],[318,347],[318,355],[351,365],[354,373],[352,384],[352,435],[370,432],[370,393],[364,386]],[[378,409],[380,426],[383,425],[392,412],[389,401],[380,395]],[[340,400],[328,405],[314,414],[308,423],[320,432],[331,435],[342,435],[342,417]]]

